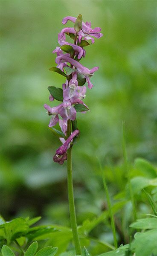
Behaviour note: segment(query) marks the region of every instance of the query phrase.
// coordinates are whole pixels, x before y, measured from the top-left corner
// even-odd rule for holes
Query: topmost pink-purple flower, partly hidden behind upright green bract
[[[63,18],[62,24],[66,24],[68,20],[72,21],[73,23],[76,22],[76,18],[75,17],[67,16],[67,17]],[[88,22],[86,22],[86,23],[82,22],[82,29],[81,29],[81,31],[84,33],[84,35],[91,35],[91,36],[93,36],[95,38],[101,38],[102,37],[102,33],[100,33],[101,28],[97,27],[95,29],[92,29],[91,28],[91,22],[89,22],[89,23]],[[80,33],[78,32],[78,35],[79,34]]]

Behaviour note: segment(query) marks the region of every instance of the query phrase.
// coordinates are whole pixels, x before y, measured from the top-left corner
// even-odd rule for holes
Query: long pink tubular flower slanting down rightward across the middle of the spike
[[[93,67],[91,70],[89,70],[87,67],[84,67],[81,65],[78,61],[73,60],[72,58],[66,56],[65,54],[58,56],[55,59],[55,62],[60,65],[61,63],[64,62],[69,62],[72,64],[74,67],[76,67],[77,71],[79,74],[83,74],[84,77],[86,78],[86,81],[88,83],[88,88],[92,88],[93,84],[90,82],[89,76],[93,76],[93,73],[99,69],[99,67]]]

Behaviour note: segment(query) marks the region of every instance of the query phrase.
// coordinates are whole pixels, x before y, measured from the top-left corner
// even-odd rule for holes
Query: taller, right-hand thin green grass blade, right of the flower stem
[[[133,207],[134,221],[136,221],[137,212],[136,212],[136,206],[135,206],[134,195],[133,195],[133,190],[132,190],[131,181],[130,181],[130,173],[129,173],[129,168],[128,168],[128,156],[127,156],[127,152],[126,152],[125,122],[124,121],[122,122],[122,130],[123,130],[122,150],[123,150],[124,164],[125,164],[125,170],[126,170],[127,176],[128,176],[128,185],[129,185],[129,192],[130,192],[130,197],[131,197],[131,204]]]

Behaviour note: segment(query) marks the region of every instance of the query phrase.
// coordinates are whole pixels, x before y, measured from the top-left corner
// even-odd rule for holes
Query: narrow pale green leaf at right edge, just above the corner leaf
[[[157,218],[137,219],[130,227],[137,229],[157,229]]]

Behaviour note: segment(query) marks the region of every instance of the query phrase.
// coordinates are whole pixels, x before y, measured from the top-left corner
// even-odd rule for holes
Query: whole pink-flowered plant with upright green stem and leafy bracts
[[[79,137],[79,130],[77,128],[76,113],[86,112],[88,107],[84,104],[87,81],[88,88],[92,88],[93,84],[90,78],[99,67],[93,67],[88,69],[84,67],[80,61],[84,58],[86,51],[84,47],[94,43],[94,38],[101,38],[101,28],[91,28],[91,23],[82,22],[82,16],[78,17],[64,17],[62,24],[66,24],[68,21],[74,23],[74,27],[66,27],[58,34],[58,44],[60,46],[53,50],[57,57],[55,62],[57,67],[52,67],[49,70],[55,71],[66,78],[62,89],[54,86],[49,86],[50,93],[49,100],[52,102],[55,99],[60,101],[61,104],[55,107],[50,107],[45,104],[44,108],[47,110],[47,114],[51,116],[49,122],[49,128],[51,131],[60,138],[61,145],[55,152],[53,160],[56,163],[63,164],[67,160],[67,181],[68,181],[68,197],[70,207],[70,220],[73,231],[73,240],[75,244],[76,254],[81,255],[81,247],[78,238],[76,214],[73,197],[73,182],[72,182],[72,161],[71,150],[72,146],[76,144]],[[66,41],[66,36],[69,36],[73,41],[69,43]],[[53,128],[57,123],[61,128],[61,131]]]

